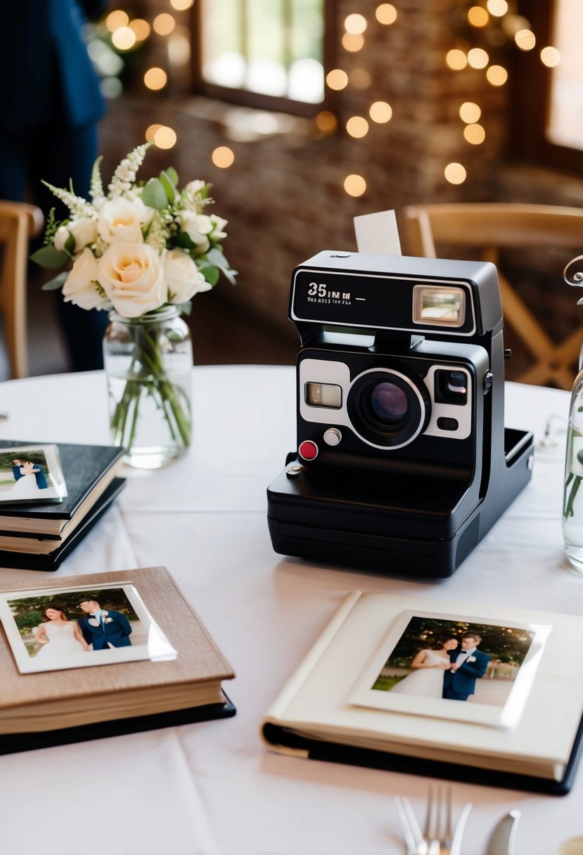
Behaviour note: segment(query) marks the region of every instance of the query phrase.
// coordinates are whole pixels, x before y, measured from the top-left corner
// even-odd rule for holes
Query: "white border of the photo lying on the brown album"
[[[9,600],[26,599],[32,597],[46,597],[47,600],[54,598],[58,600],[62,593],[86,593],[87,591],[105,591],[108,588],[120,589],[125,593],[132,609],[138,616],[138,620],[144,623],[147,629],[148,641],[142,645],[125,647],[109,647],[107,650],[91,651],[89,655],[83,651],[78,655],[66,657],[67,663],[46,663],[42,668],[35,667],[34,657],[31,658],[26,651],[26,646],[16,626],[15,617],[9,606]],[[132,581],[117,581],[97,583],[85,586],[70,585],[67,587],[38,587],[26,588],[24,590],[15,588],[14,591],[0,592],[0,621],[2,622],[10,650],[15,657],[17,669],[21,674],[40,674],[45,671],[62,671],[76,668],[92,668],[96,665],[112,665],[120,662],[138,662],[150,659],[152,662],[166,662],[175,659],[178,652],[170,644],[162,628],[151,616],[150,611],[140,597],[136,583]]]

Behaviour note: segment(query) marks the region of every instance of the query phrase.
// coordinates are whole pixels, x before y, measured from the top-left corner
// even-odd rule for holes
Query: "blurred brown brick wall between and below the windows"
[[[389,27],[375,20],[377,5],[378,0],[338,0],[339,21],[354,11],[368,21],[364,47],[352,54],[340,48],[338,67],[349,74],[365,69],[371,84],[366,89],[349,85],[337,93],[339,133],[333,136],[319,136],[307,120],[286,120],[281,133],[233,139],[233,125],[245,117],[240,109],[175,89],[146,94],[139,85],[111,103],[101,128],[106,168],[144,139],[152,122],[174,128],[178,144],[168,152],[150,152],[144,174],[171,163],[183,180],[201,177],[214,184],[217,213],[229,220],[227,256],[239,271],[238,285],[221,283],[221,295],[289,336],[296,335],[286,317],[292,268],[323,249],[356,249],[353,216],[419,201],[504,198],[500,164],[506,87],[489,85],[483,71],[452,72],[445,64],[461,32],[465,4],[400,0],[395,2],[397,21]],[[139,11],[151,20],[156,12],[168,11],[168,3],[143,0]],[[188,15],[183,15],[186,24]],[[151,38],[149,50],[150,62],[165,61],[161,38]],[[392,105],[392,120],[371,121],[366,137],[351,139],[344,133],[345,122],[351,115],[368,116],[368,106],[377,100]],[[486,141],[481,145],[468,144],[462,136],[458,109],[468,100],[482,108]],[[215,168],[210,160],[223,144],[235,155],[228,169]],[[448,162],[467,168],[461,186],[445,180]],[[344,177],[351,173],[367,181],[361,198],[344,192]],[[516,188],[509,193],[519,200]],[[539,196],[532,201],[554,200]]]

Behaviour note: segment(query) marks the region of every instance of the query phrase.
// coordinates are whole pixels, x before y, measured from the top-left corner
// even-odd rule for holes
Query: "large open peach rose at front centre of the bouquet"
[[[97,281],[114,309],[135,318],[166,302],[166,283],[160,258],[148,244],[115,243],[97,262]]]

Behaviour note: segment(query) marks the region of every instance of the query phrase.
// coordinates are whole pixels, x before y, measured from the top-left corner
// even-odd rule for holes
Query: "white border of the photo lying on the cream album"
[[[533,640],[527,655],[510,688],[509,696],[502,706],[486,704],[467,704],[459,700],[444,698],[423,698],[415,695],[403,695],[391,691],[373,689],[387,660],[397,646],[409,622],[413,617],[429,617],[435,620],[490,624],[493,627],[506,627],[511,624],[533,634]],[[551,633],[550,624],[522,623],[520,621],[499,620],[498,618],[454,615],[426,610],[406,610],[400,612],[391,628],[388,629],[366,668],[356,684],[350,690],[346,703],[354,706],[372,707],[375,710],[411,713],[416,716],[445,718],[462,722],[486,724],[498,728],[515,728],[520,722],[522,711],[527,704],[528,694],[536,677],[546,640]],[[471,632],[471,628],[468,629]]]

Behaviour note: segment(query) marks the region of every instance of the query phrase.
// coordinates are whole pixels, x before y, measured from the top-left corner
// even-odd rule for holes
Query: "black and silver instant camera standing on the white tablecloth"
[[[449,576],[531,477],[504,428],[489,262],[321,252],[291,277],[297,451],[268,487],[274,550]]]

